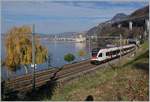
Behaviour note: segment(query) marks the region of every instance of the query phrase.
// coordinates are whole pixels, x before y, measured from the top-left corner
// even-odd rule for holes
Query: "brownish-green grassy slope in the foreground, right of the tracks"
[[[122,60],[121,67],[103,68],[83,75],[56,88],[51,99],[85,100],[92,95],[94,100],[148,100],[149,97],[149,51],[148,42],[142,44],[135,57]]]

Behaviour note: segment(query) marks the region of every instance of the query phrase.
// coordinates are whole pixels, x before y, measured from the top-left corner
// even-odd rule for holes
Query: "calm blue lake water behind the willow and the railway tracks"
[[[75,55],[76,59],[75,62],[79,62],[81,60],[86,60],[90,57],[90,51],[89,51],[89,44],[86,43],[75,43],[75,42],[50,42],[46,40],[42,40],[41,43],[48,48],[48,53],[51,55],[51,65],[54,67],[61,67],[65,64],[67,64],[66,61],[64,61],[64,55],[67,53],[72,53]],[[87,52],[86,56],[80,58],[77,54],[79,50],[85,50]],[[5,48],[4,48],[4,42],[2,40],[2,48],[1,48],[1,59],[2,61],[5,58]],[[48,63],[38,64],[36,71],[44,70],[48,68]],[[1,68],[1,75],[2,79],[12,78],[16,77],[18,75],[23,75],[26,73],[31,73],[32,69],[29,66],[27,72],[25,68],[22,66],[20,68],[17,68],[15,71],[9,70],[6,66],[2,66]]]

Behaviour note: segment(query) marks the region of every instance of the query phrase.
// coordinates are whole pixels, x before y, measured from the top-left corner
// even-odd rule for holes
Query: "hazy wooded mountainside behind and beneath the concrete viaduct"
[[[138,38],[139,35],[142,36],[143,38],[143,34],[144,34],[144,28],[142,26],[140,27],[133,27],[132,31],[130,31],[128,29],[128,27],[120,27],[118,29],[117,26],[113,26],[112,24],[116,21],[120,21],[123,19],[130,19],[130,18],[134,18],[134,17],[141,17],[141,16],[145,16],[145,15],[149,15],[149,6],[143,7],[141,9],[136,10],[135,12],[131,13],[130,15],[126,15],[124,13],[118,13],[116,14],[114,17],[112,17],[111,20],[108,20],[106,22],[100,23],[99,25],[89,29],[87,31],[87,35],[91,36],[91,35],[97,35],[98,37],[100,36],[120,36],[119,34],[121,34],[123,36],[123,38],[133,38],[136,37]],[[98,46],[105,46],[106,44],[111,44],[112,43],[112,39],[105,39],[105,40],[98,40]]]

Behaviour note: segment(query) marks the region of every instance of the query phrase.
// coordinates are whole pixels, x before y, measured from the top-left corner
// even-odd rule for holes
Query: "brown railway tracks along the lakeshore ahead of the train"
[[[40,87],[45,85],[47,82],[56,79],[57,82],[63,82],[71,78],[82,75],[97,68],[100,68],[102,65],[92,65],[90,60],[83,61],[80,63],[65,65],[63,68],[58,69],[48,69],[44,71],[39,71],[35,73],[35,85]],[[26,92],[32,89],[32,74],[27,74],[6,80],[4,86],[8,90]]]

